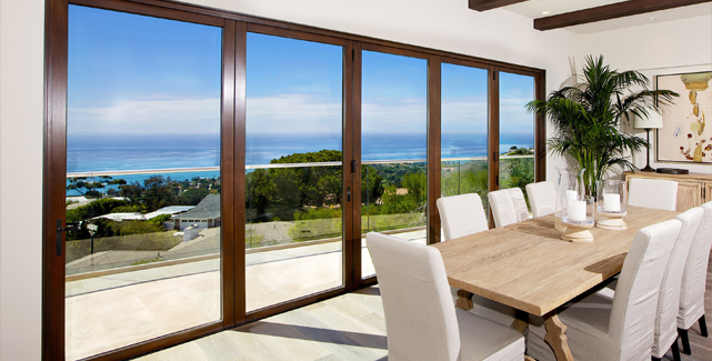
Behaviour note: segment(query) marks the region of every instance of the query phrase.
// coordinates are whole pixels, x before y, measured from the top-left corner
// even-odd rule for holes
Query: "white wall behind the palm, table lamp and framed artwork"
[[[659,74],[712,70],[712,16],[684,20],[651,22],[644,27],[611,30],[581,37],[584,53],[604,54],[613,69],[638,70],[651,81]],[[711,90],[712,91],[712,90]],[[686,94],[680,94],[686,101]],[[708,116],[708,119],[710,117]],[[640,131],[640,130],[635,130]],[[645,132],[636,133],[645,137]],[[650,164],[653,168],[685,168],[691,172],[712,173],[712,164],[658,163],[654,154],[654,133]],[[635,166],[645,167],[646,153],[633,157]]]

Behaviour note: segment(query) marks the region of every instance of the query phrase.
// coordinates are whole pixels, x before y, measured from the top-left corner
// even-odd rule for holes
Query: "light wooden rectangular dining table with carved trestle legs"
[[[549,214],[432,247],[458,289],[455,307],[472,309],[473,294],[507,304],[520,311],[511,327],[522,333],[529,314],[542,317],[556,360],[572,361],[560,308],[619,273],[640,229],[680,213],[632,205],[626,212],[625,230],[591,228],[592,242],[564,241]]]

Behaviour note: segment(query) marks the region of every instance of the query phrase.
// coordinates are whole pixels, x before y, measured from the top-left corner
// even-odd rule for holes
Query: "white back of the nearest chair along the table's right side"
[[[663,270],[681,227],[673,219],[645,227],[633,238],[609,318],[609,338],[621,348],[618,360],[650,359]]]

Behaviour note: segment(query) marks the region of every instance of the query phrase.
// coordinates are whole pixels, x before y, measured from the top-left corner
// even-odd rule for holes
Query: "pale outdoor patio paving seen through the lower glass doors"
[[[425,231],[398,237],[424,243]],[[363,244],[363,274],[373,274]],[[248,253],[248,312],[337,288],[341,242]],[[220,259],[67,282],[67,359],[220,320]]]

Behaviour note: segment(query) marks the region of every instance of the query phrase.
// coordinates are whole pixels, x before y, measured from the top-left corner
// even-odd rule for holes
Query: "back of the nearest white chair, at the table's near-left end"
[[[374,232],[365,243],[381,289],[389,360],[458,360],[460,331],[440,251]]]

